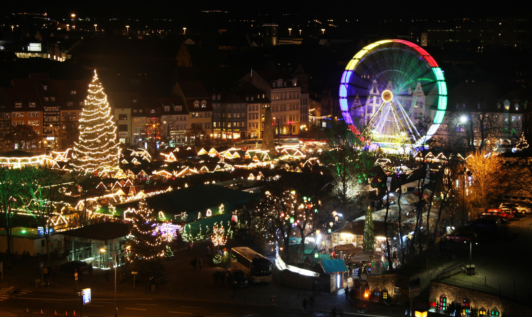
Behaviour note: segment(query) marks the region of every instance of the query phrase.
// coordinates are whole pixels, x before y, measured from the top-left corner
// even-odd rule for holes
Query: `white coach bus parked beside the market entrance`
[[[238,268],[246,273],[250,283],[271,282],[273,264],[267,257],[248,247],[231,249],[231,268]]]

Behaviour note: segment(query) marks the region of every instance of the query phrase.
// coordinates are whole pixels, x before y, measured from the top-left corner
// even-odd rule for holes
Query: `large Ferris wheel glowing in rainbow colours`
[[[365,46],[340,82],[345,122],[370,147],[419,148],[438,130],[447,107],[442,70],[425,49],[405,40]]]

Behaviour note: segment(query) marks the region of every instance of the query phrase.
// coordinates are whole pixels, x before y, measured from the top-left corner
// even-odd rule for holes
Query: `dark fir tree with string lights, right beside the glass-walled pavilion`
[[[133,228],[129,233],[131,255],[128,260],[142,262],[143,260],[152,260],[164,255],[164,246],[162,245],[164,237],[160,230],[155,231],[155,227],[160,221],[157,220],[153,209],[148,207],[146,200],[139,202],[138,210],[134,210],[131,218]]]

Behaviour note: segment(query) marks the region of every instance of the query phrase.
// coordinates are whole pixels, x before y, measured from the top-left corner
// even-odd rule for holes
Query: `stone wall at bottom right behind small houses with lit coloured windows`
[[[436,297],[436,300],[439,301],[439,296],[442,294],[445,294],[447,303],[449,304],[453,301],[462,304],[464,297],[468,297],[471,301],[471,307],[480,308],[484,306],[488,311],[492,310],[493,307],[497,307],[501,312],[501,317],[532,316],[532,307],[511,301],[510,299],[478,290],[432,282],[430,284],[430,296]]]

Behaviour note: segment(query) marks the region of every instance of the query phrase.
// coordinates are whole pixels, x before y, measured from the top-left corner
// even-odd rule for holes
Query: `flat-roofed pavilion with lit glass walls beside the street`
[[[102,253],[100,249],[124,249],[129,226],[127,223],[107,221],[58,233],[70,240],[67,261],[84,261],[92,264],[94,268],[108,269],[112,267],[112,251]]]

